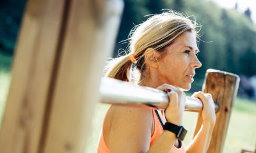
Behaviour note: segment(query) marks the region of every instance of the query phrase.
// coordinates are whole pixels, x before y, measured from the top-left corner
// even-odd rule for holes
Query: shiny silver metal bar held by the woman
[[[108,104],[146,104],[166,109],[169,97],[166,92],[113,78],[102,78],[99,86],[101,103]],[[202,102],[194,97],[186,97],[185,111],[202,111]],[[218,105],[215,104],[215,111]]]

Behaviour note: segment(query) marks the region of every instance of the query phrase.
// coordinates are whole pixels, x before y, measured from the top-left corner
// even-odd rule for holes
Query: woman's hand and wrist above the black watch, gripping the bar
[[[170,123],[181,126],[186,102],[186,94],[179,88],[168,84],[163,84],[157,89],[167,92],[169,96],[169,104],[165,110],[166,120]]]

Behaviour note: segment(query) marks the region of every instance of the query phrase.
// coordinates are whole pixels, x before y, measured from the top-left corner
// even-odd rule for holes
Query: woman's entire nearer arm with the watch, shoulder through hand
[[[162,85],[169,96],[169,106],[165,117],[168,122],[182,125],[186,94],[170,85]],[[150,148],[154,131],[154,119],[151,109],[113,105],[111,128],[109,132],[110,152],[166,152],[172,150],[176,135],[164,130]]]

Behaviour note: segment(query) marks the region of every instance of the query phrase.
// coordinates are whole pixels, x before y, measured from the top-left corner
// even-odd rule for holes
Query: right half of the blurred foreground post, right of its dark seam
[[[122,1],[70,1],[42,152],[84,152],[98,86],[113,50]]]

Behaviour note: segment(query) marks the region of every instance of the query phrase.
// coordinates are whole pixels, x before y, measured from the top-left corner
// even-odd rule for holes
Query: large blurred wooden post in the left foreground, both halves
[[[84,152],[122,0],[31,0],[0,130],[0,152]]]

